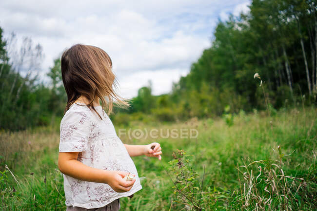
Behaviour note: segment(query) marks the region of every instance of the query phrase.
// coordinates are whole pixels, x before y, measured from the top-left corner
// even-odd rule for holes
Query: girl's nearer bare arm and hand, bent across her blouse
[[[125,181],[123,177],[128,172],[106,171],[96,169],[79,162],[78,152],[59,153],[59,171],[79,180],[106,183],[116,192],[127,192],[132,188],[135,179]]]

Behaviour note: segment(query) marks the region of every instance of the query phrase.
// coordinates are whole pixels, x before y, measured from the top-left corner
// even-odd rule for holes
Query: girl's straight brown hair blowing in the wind
[[[108,107],[108,114],[112,112],[114,99],[118,105],[128,105],[114,90],[117,80],[112,72],[112,61],[101,48],[76,44],[67,49],[61,56],[61,76],[67,93],[64,113],[80,96],[88,99],[86,106],[97,114],[93,105],[97,97],[101,100],[102,109]]]

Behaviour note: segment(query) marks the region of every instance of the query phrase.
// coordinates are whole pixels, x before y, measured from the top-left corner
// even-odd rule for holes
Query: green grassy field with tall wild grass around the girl
[[[124,127],[195,128],[199,135],[195,139],[121,137],[129,144],[158,141],[163,151],[161,161],[133,158],[143,189],[132,199],[123,198],[121,210],[316,210],[316,117],[317,109],[312,107],[271,112],[271,116],[240,112],[232,125],[222,118],[131,122]],[[66,209],[58,145],[57,128],[1,132],[0,210]]]

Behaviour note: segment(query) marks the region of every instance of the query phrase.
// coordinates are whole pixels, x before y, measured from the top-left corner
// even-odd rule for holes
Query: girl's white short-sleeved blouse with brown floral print
[[[80,103],[78,103],[80,104]],[[63,174],[66,206],[103,207],[142,189],[137,169],[101,106],[100,117],[87,106],[74,103],[60,122],[59,152],[79,152],[79,162],[98,169],[136,175],[129,192],[115,192],[108,184],[87,182]]]

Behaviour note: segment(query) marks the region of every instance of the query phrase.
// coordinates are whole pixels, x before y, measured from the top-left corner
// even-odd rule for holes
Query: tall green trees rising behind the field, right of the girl
[[[150,104],[153,98],[142,90],[151,88],[144,87],[130,112],[140,108],[160,120],[178,120],[265,109],[255,73],[269,108],[294,106],[305,97],[316,103],[316,1],[253,0],[249,7],[247,14],[218,21],[211,47],[170,94]]]

